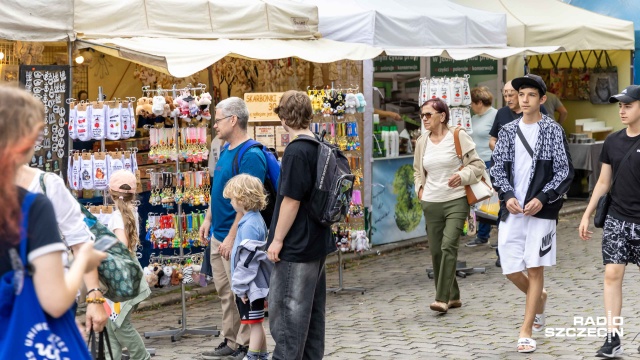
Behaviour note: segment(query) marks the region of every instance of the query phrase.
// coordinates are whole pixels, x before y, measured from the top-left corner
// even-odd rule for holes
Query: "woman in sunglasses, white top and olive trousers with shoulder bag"
[[[415,190],[427,223],[436,285],[435,302],[430,308],[447,312],[462,306],[456,264],[458,242],[469,215],[464,185],[478,182],[485,164],[464,130],[459,132],[463,155],[458,158],[453,138],[456,128],[447,125],[449,108],[442,100],[426,101],[420,117],[426,131],[416,141],[413,169]]]

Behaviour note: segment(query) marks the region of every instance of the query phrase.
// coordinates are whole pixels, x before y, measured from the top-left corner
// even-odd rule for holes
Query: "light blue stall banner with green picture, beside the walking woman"
[[[371,186],[371,243],[426,236],[422,207],[413,186],[413,156],[376,159]]]

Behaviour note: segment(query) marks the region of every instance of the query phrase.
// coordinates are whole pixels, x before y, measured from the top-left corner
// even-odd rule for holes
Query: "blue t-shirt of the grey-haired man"
[[[244,142],[233,149],[224,149],[220,153],[220,158],[213,172],[213,183],[211,184],[211,235],[218,241],[224,241],[229,235],[233,220],[236,218],[236,211],[231,206],[231,200],[225,199],[222,196],[222,192],[227,181],[234,176],[233,158],[240,151],[242,145],[244,145]],[[267,160],[261,149],[253,147],[244,153],[240,161],[238,174],[253,175],[264,182],[267,174]]]

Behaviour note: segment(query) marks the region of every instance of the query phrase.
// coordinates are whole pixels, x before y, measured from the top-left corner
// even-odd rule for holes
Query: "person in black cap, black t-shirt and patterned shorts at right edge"
[[[631,85],[609,102],[618,102],[620,119],[627,127],[604,141],[600,162],[602,168],[593,189],[589,205],[582,216],[578,233],[582,240],[591,238],[591,214],[598,199],[610,192],[611,205],[602,231],[602,259],[604,263],[604,307],[607,319],[620,317],[622,280],[628,263],[640,266],[640,86]],[[630,156],[624,160],[630,151]],[[612,184],[615,178],[615,183]],[[617,324],[608,324],[608,336],[598,350],[601,357],[622,354]]]

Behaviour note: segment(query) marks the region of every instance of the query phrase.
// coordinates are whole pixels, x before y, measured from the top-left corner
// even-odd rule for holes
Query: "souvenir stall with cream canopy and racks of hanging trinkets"
[[[164,9],[168,3],[147,6],[144,1],[105,3],[99,13],[95,12],[94,5],[88,1],[65,2],[53,12],[32,9],[28,5],[22,7],[17,2],[4,5],[0,13],[6,15],[8,21],[6,29],[0,29],[0,34],[5,30],[17,34],[22,31],[28,32],[29,26],[25,24],[43,22],[52,28],[51,34],[64,34],[63,39],[76,40],[69,42],[67,64],[71,63],[72,57],[77,64],[82,63],[85,57],[93,58],[93,62],[97,64],[94,74],[95,77],[99,76],[100,82],[89,85],[99,89],[97,94],[95,89],[91,90],[93,96],[98,95],[97,101],[76,99],[74,102],[70,95],[61,98],[65,104],[66,100],[69,100],[69,107],[65,107],[66,130],[77,136],[78,141],[93,141],[91,147],[74,152],[68,158],[70,185],[78,191],[81,189],[83,195],[85,191],[91,194],[92,198],[89,201],[96,200],[94,204],[103,203],[105,196],[96,195],[100,195],[101,188],[108,183],[110,172],[120,166],[129,166],[132,171],[136,171],[137,167],[141,188],[152,190],[149,195],[142,194],[138,209],[141,217],[147,217],[148,231],[145,235],[149,237],[143,236],[143,239],[148,240],[143,243],[145,247],[150,248],[149,259],[154,261],[151,266],[146,267],[145,277],[154,286],[156,281],[157,286],[167,284],[167,278],[169,285],[179,284],[183,294],[183,311],[179,329],[145,333],[145,337],[171,336],[171,339],[176,341],[185,334],[217,333],[214,329],[187,329],[184,291],[187,283],[195,282],[193,270],[196,269],[191,265],[201,260],[194,249],[203,245],[198,244],[195,236],[202,212],[193,212],[186,206],[199,205],[200,209],[203,209],[208,202],[206,194],[209,174],[202,161],[206,160],[208,155],[206,146],[210,143],[211,137],[210,133],[203,132],[202,129],[211,127],[208,121],[211,114],[205,108],[215,104],[215,100],[221,98],[218,95],[225,90],[226,96],[223,97],[231,96],[231,87],[242,83],[243,76],[251,78],[244,72],[246,68],[243,66],[247,66],[244,60],[244,63],[235,66],[235,69],[232,68],[232,63],[237,64],[240,61],[221,60],[227,56],[265,60],[253,66],[256,76],[262,77],[256,80],[264,82],[261,86],[278,79],[291,78],[287,71],[297,70],[297,59],[316,62],[317,65],[314,66],[301,65],[298,70],[303,71],[305,67],[309,70],[309,77],[303,81],[301,90],[314,88],[318,93],[320,89],[324,91],[327,101],[332,104],[332,112],[336,113],[330,116],[331,120],[324,118],[324,124],[318,125],[318,129],[328,129],[334,141],[342,142],[344,139],[345,151],[346,146],[349,146],[355,153],[358,132],[357,126],[353,124],[357,122],[357,117],[354,115],[349,120],[339,122],[333,116],[337,117],[338,107],[344,106],[340,105],[340,98],[346,98],[348,93],[355,95],[360,85],[355,81],[352,82],[352,86],[347,85],[348,80],[330,79],[333,76],[329,70],[334,73],[333,70],[337,67],[322,64],[341,59],[359,62],[377,56],[381,50],[362,44],[345,44],[320,38],[317,33],[317,10],[315,6],[310,5],[263,1],[242,4],[224,1],[190,2],[181,5],[184,11],[179,14],[167,13]],[[33,7],[37,7],[37,4]],[[122,13],[125,11],[128,14],[127,20],[118,20],[124,19]],[[60,17],[52,19],[48,14]],[[32,21],[25,23],[24,19]],[[81,40],[75,38],[76,34]],[[146,80],[155,76],[153,73],[152,76],[148,76],[151,70],[183,78],[206,69],[211,78],[214,74],[220,77],[221,80],[215,86],[222,91],[218,94],[210,93],[206,100],[208,104],[203,104],[203,98],[207,98],[205,87],[196,81],[190,82],[191,86],[171,86],[170,92],[167,92],[166,87],[159,88],[159,81],[155,81],[152,84],[147,83],[151,85],[150,88],[134,90],[135,87],[129,85],[125,86],[129,89],[126,93],[103,94],[101,82],[117,83],[114,88],[118,89],[120,84],[126,81],[123,77],[118,79],[115,74],[110,73],[110,58],[107,56],[130,62],[127,67],[143,66],[136,70],[138,76]],[[210,68],[216,62],[225,65],[217,72]],[[342,69],[348,71],[353,68],[352,65],[345,63]],[[313,72],[322,74],[323,71],[314,67],[327,69],[327,73],[323,74],[326,79],[321,78],[322,81],[315,84],[312,83]],[[358,69],[358,79],[361,79],[361,70]],[[155,76],[155,80],[160,78],[162,76]],[[214,81],[211,78],[208,83],[213,85]],[[225,83],[225,86],[220,82]],[[292,88],[292,84],[283,85],[286,86],[278,89],[269,87],[263,91],[284,91]],[[210,86],[210,90],[214,90],[213,86]],[[254,88],[242,89],[240,94],[249,91],[254,91]],[[172,100],[165,98],[167,95],[171,95]],[[172,108],[172,105],[176,108]],[[72,109],[74,111],[71,111]],[[72,112],[75,115],[73,121],[68,118],[68,114]],[[123,127],[126,120],[129,120],[128,129]],[[119,127],[119,137],[115,130],[111,132],[112,125],[115,128]],[[266,135],[265,138],[275,139],[275,134],[273,137],[269,136],[269,127],[274,132],[276,130],[273,123],[255,125],[256,129],[258,125],[265,126],[265,133],[261,134]],[[132,127],[137,129],[136,135],[126,139],[130,134],[124,133],[130,132]],[[255,133],[254,136],[258,137]],[[280,145],[285,144],[281,141]],[[355,168],[361,162],[356,160],[357,156],[352,158]],[[165,161],[167,163],[162,164]],[[145,164],[146,162],[154,164]],[[187,162],[190,162],[189,165],[185,165]],[[156,206],[162,210],[148,211],[145,209],[146,206]],[[104,205],[93,205],[92,209],[99,213],[103,221],[112,210]],[[355,217],[357,215],[359,214],[356,213]],[[166,254],[163,251],[172,253]],[[168,264],[172,264],[169,266],[172,273],[169,277],[165,271]],[[161,272],[165,272],[164,276]],[[180,275],[181,281],[171,278]],[[201,279],[202,276],[198,280]]]

